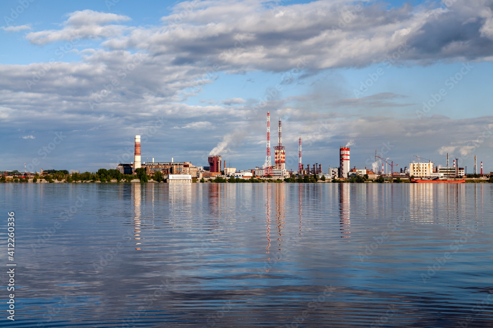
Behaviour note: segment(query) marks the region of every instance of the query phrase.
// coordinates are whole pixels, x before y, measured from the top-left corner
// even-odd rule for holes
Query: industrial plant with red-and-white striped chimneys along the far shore
[[[226,167],[226,161],[222,160],[220,154],[211,154],[208,156],[208,166],[195,166],[191,162],[141,162],[141,136],[135,136],[135,154],[134,162],[120,163],[117,169],[126,175],[136,174],[138,169],[143,169],[148,176],[154,176],[160,172],[166,177],[167,182],[191,182],[192,179],[215,178],[215,177],[235,177],[250,179],[257,178],[274,178],[283,179],[292,176],[322,176],[328,179],[352,179],[352,177],[362,176],[365,179],[385,178],[419,178],[419,179],[447,179],[462,178],[466,175],[464,168],[458,167],[458,158],[454,159],[453,166],[449,167],[449,154],[447,153],[447,164],[445,167],[435,165],[431,160],[415,155],[417,162],[409,163],[409,168],[404,167],[400,172],[395,172],[393,160],[378,156],[375,150],[375,161],[372,168],[357,169],[351,168],[350,165],[350,146],[352,141],[339,148],[339,167],[328,167],[325,172],[322,171],[322,164],[303,164],[302,162],[302,139],[298,139],[298,170],[296,172],[286,169],[286,148],[282,145],[282,121],[278,122],[278,143],[274,147],[274,165],[271,161],[271,136],[270,136],[270,113],[267,112],[266,120],[266,150],[265,162],[262,167],[254,169],[237,171],[236,168]],[[213,150],[214,151],[214,150]],[[379,162],[382,164],[380,167]],[[476,156],[474,156],[474,174],[477,174]],[[385,165],[390,166],[390,172]],[[483,176],[483,162],[481,162],[481,176]]]

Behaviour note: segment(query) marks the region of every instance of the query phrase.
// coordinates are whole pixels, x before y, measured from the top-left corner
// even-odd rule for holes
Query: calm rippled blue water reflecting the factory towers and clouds
[[[493,327],[492,187],[2,184],[0,326]]]

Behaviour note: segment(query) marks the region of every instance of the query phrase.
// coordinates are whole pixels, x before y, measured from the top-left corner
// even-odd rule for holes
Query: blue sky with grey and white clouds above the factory
[[[493,0],[0,4],[1,170],[133,161],[493,171]],[[272,150],[272,161],[274,161]],[[389,168],[388,168],[389,169]]]

